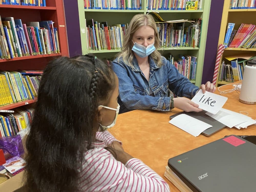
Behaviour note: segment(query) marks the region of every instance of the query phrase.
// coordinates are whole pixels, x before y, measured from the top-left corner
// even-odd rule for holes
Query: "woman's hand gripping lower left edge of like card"
[[[181,109],[185,112],[202,111],[202,109],[198,108],[199,107],[198,104],[194,103],[193,101],[190,101],[188,98],[185,98],[185,97],[173,98],[173,104],[174,104],[174,107]]]

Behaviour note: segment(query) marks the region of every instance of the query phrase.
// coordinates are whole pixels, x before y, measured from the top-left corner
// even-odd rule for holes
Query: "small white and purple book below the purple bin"
[[[19,169],[25,167],[25,160],[19,156],[10,158],[6,160],[6,163],[3,164],[4,168],[7,169],[10,173],[14,173]]]

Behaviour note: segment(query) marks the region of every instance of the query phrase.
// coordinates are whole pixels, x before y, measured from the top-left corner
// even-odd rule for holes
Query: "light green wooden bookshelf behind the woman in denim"
[[[114,24],[126,24],[130,22],[135,14],[144,13],[147,14],[151,10],[146,8],[147,1],[142,0],[142,10],[111,10],[111,9],[84,9],[83,0],[78,0],[78,12],[79,12],[79,23],[80,23],[80,34],[81,34],[81,46],[82,54],[92,53],[99,58],[113,58],[120,50],[88,50],[87,48],[87,35],[86,35],[86,23],[93,19],[97,22],[107,21],[108,25]],[[162,48],[159,51],[166,58],[169,53],[172,53],[174,58],[177,58],[179,54],[193,55],[197,57],[197,68],[196,68],[196,80],[191,81],[195,83],[196,86],[201,85],[202,71],[204,66],[204,56],[205,56],[205,45],[208,29],[208,20],[210,12],[210,0],[204,0],[202,2],[201,10],[156,10],[158,14],[164,20],[176,20],[176,19],[194,19],[202,18],[201,26],[201,39],[200,48],[193,47],[170,47]]]

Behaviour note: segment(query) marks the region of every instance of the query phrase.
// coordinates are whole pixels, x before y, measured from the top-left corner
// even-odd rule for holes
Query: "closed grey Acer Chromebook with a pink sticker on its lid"
[[[192,191],[255,191],[256,145],[229,135],[176,157],[168,167]]]

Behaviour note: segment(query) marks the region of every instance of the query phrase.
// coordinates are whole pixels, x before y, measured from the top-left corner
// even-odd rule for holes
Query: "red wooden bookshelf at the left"
[[[65,13],[63,2],[59,0],[46,0],[46,7],[43,6],[23,6],[23,5],[0,5],[0,15],[2,17],[14,17],[21,19],[22,23],[52,20],[54,27],[58,31],[60,53],[49,55],[35,55],[15,57],[13,59],[0,59],[0,69],[17,71],[19,69],[43,70],[49,60],[60,56],[69,56],[68,41],[65,23]],[[0,107],[2,110],[14,109],[29,103],[36,102],[34,100],[26,100],[6,106]]]

